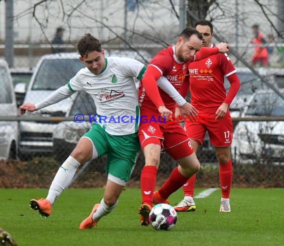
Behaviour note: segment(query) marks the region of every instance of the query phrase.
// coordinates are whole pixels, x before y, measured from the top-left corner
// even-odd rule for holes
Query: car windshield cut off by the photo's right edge
[[[246,116],[284,116],[284,100],[275,93],[257,93]]]

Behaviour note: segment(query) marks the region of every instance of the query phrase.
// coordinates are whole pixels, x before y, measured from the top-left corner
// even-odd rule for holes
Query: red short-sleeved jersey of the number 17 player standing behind
[[[226,98],[224,76],[236,73],[228,55],[215,54],[188,66],[190,102],[199,112],[215,113]]]

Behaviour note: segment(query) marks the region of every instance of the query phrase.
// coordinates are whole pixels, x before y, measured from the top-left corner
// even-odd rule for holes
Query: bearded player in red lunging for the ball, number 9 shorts
[[[156,81],[163,75],[179,89],[188,71],[188,64],[218,52],[227,52],[228,45],[220,43],[215,48],[202,48],[202,35],[194,28],[185,28],[174,46],[169,46],[157,53],[150,61],[142,78],[139,89],[141,122],[138,130],[139,140],[145,156],[145,166],[141,173],[142,205],[140,207],[141,225],[149,224],[148,215],[152,203],[166,203],[170,194],[179,189],[185,181],[200,168],[200,163],[191,146],[190,140],[175,120],[170,118],[175,110],[174,100],[156,86]],[[200,50],[196,53],[198,50]],[[196,53],[196,54],[195,54]],[[197,111],[185,103],[181,111],[195,117]],[[160,151],[166,151],[179,163],[169,179],[158,192],[153,194]]]

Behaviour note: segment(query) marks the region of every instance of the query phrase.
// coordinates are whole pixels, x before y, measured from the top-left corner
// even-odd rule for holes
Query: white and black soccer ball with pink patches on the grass
[[[169,231],[172,229],[177,220],[174,208],[168,204],[160,203],[155,205],[149,214],[151,226],[157,230]]]

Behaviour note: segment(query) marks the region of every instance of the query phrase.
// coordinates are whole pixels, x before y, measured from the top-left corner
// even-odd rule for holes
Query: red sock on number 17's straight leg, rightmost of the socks
[[[222,191],[222,198],[230,197],[232,176],[233,176],[232,161],[229,160],[225,164],[219,163],[219,178],[220,178],[220,185]]]

